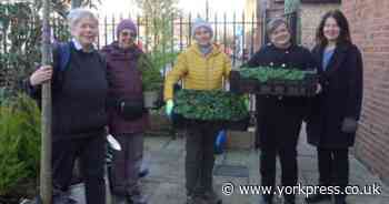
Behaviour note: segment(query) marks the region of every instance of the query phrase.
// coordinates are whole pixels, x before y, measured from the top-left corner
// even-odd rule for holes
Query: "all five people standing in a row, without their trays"
[[[63,67],[63,44],[54,47],[53,64],[41,65],[26,81],[30,95],[40,98],[40,85],[52,83],[52,167],[54,204],[70,185],[74,160],[86,184],[88,204],[106,203],[106,135],[112,134],[122,150],[114,152],[108,170],[116,204],[146,204],[139,187],[143,133],[148,111],[143,108],[142,69],[146,54],[136,45],[137,27],[122,20],[118,41],[98,51],[98,19],[88,10],[69,13],[72,39],[67,42],[69,62]],[[348,147],[353,145],[362,99],[361,53],[352,44],[345,16],[336,10],[323,16],[317,30],[317,44],[310,52],[292,41],[287,22],[273,19],[267,26],[270,43],[247,62],[247,67],[316,69],[319,75],[313,98],[256,96],[257,129],[260,134],[261,185],[276,190],[276,157],[281,162],[281,184],[298,182],[297,144],[301,124],[307,123],[308,142],[317,146],[320,186],[346,188],[349,181]],[[231,62],[212,41],[212,27],[201,19],[192,26],[196,41],[179,54],[164,81],[166,113],[171,116],[174,84],[184,89],[220,90],[229,80]],[[60,49],[62,47],[62,49]],[[143,59],[143,60],[142,60]],[[144,60],[146,59],[146,60]],[[187,124],[186,193],[187,204],[221,204],[213,190],[213,143],[218,126],[212,122]],[[283,195],[285,204],[295,204],[293,194]],[[261,204],[271,204],[272,195],[262,195]],[[316,193],[309,203],[330,200]],[[346,195],[333,195],[336,204],[346,204]],[[57,202],[57,203],[56,203]]]

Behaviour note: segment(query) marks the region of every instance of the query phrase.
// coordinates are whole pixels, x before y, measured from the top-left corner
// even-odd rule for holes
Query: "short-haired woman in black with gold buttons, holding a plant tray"
[[[290,30],[283,19],[269,22],[270,42],[263,45],[247,63],[249,68],[275,67],[286,69],[313,69],[311,53],[291,41]],[[300,96],[257,95],[257,129],[259,130],[261,185],[276,185],[276,156],[281,163],[282,186],[297,185],[297,143],[307,99]],[[272,194],[265,194],[261,204],[272,204]],[[283,195],[285,204],[295,204],[295,195]]]

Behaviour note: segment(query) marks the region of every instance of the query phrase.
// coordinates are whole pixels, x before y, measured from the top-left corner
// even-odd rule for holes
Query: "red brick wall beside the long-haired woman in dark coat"
[[[363,110],[355,153],[389,182],[389,1],[343,0],[342,10],[365,62]]]

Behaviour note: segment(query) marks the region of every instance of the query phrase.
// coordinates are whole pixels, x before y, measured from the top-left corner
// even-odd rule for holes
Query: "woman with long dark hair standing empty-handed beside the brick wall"
[[[308,142],[317,146],[319,185],[345,191],[349,181],[348,149],[355,143],[361,112],[362,59],[351,43],[347,19],[340,11],[323,16],[312,55],[319,67],[322,91],[312,100]],[[345,204],[346,195],[338,193],[335,192],[335,203]],[[330,194],[315,194],[307,201],[330,198]]]

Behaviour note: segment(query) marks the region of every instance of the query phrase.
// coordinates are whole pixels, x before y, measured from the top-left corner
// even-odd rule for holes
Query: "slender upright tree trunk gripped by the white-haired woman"
[[[43,1],[42,64],[51,64],[50,0]],[[42,140],[40,159],[40,197],[43,204],[52,203],[51,176],[51,82],[42,85]]]

